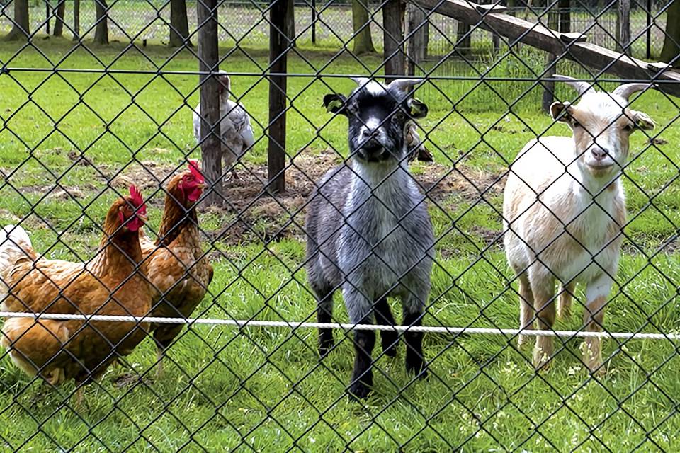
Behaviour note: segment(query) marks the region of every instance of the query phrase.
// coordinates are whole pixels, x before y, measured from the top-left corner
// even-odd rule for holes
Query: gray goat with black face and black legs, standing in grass
[[[324,96],[324,105],[349,120],[351,164],[327,172],[307,211],[307,275],[317,296],[317,319],[331,322],[333,294],[341,288],[351,323],[394,325],[387,297],[402,300],[405,326],[420,326],[430,292],[433,231],[424,196],[407,167],[406,132],[427,106],[409,96],[417,81],[385,86],[369,79],[348,98]],[[396,331],[382,331],[382,350],[397,353]],[[404,333],[407,371],[426,376],[423,334]],[[319,329],[319,354],[333,345]],[[350,393],[365,398],[373,385],[374,331],[355,331]]]

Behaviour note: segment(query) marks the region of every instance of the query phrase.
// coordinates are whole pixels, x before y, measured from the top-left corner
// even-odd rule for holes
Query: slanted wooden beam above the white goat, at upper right
[[[621,77],[657,83],[658,88],[673,96],[680,96],[680,74],[674,71],[663,71],[659,74],[648,63],[640,59],[621,55],[613,50],[599,47],[589,42],[576,42],[567,45],[559,38],[560,33],[549,30],[508,14],[489,13],[484,16],[477,11],[475,4],[466,0],[409,0],[423,8],[429,8],[457,21],[463,21],[485,30],[493,31],[509,38],[511,44],[523,42],[545,52],[555,55],[564,54],[585,66]]]

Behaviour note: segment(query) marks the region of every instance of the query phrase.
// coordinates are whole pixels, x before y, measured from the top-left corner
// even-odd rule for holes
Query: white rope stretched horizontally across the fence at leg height
[[[336,328],[344,331],[409,331],[424,333],[465,333],[479,335],[581,337],[581,338],[619,338],[621,340],[680,340],[680,333],[640,333],[640,332],[589,332],[589,331],[539,331],[516,328],[446,327],[446,326],[377,326],[375,324],[350,323],[311,323],[302,321],[256,321],[242,319],[200,319],[200,318],[162,318],[157,316],[111,316],[57,313],[19,313],[0,311],[0,317],[55,319],[61,321],[108,321],[158,324],[210,324],[233,327],[283,327],[283,328]]]

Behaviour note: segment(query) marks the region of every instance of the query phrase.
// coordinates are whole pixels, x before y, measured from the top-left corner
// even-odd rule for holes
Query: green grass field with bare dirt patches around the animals
[[[0,44],[9,68],[194,71],[184,52],[146,47],[145,55],[121,44],[70,52],[66,41],[38,42],[39,51]],[[21,52],[20,52],[21,50]],[[330,50],[300,50],[291,73],[362,74],[356,59]],[[229,55],[222,69],[261,73],[266,51]],[[532,63],[532,61],[534,61]],[[507,60],[477,81],[437,81],[416,93],[431,105],[421,126],[436,164],[416,164],[428,190],[438,235],[431,306],[424,323],[438,326],[516,327],[519,308],[504,253],[504,172],[536,134],[567,134],[540,111],[540,88],[528,67]],[[103,64],[102,64],[103,62]],[[377,57],[363,59],[368,69]],[[533,65],[533,66],[532,66]],[[560,70],[574,73],[571,64]],[[470,75],[472,75],[470,69]],[[437,75],[437,74],[435,74]],[[51,258],[86,259],[98,242],[98,225],[130,182],[149,200],[149,224],[158,226],[163,194],[159,183],[185,156],[198,157],[191,112],[198,78],[148,74],[11,70],[0,76],[0,221],[22,222],[35,248]],[[327,86],[327,84],[330,86]],[[443,94],[438,93],[434,84]],[[312,180],[346,154],[346,122],[322,107],[330,89],[346,92],[353,82],[292,77],[288,89],[288,155],[299,169],[288,173],[288,193],[255,199],[266,175],[266,139],[230,183],[232,209],[200,215],[215,280],[200,316],[232,319],[309,319],[314,300],[306,288],[304,212],[298,212]],[[476,87],[475,87],[476,86]],[[267,83],[259,76],[232,77],[256,136],[267,122]],[[523,94],[526,92],[526,95]],[[573,98],[564,87],[558,96]],[[511,104],[511,107],[508,107]],[[610,331],[679,331],[680,133],[674,100],[650,92],[633,108],[659,127],[631,141],[625,171],[630,224],[616,295],[608,305]],[[333,151],[333,148],[337,150]],[[86,159],[86,160],[85,160]],[[308,173],[308,176],[305,176]],[[115,189],[115,190],[114,190]],[[280,202],[280,204],[279,204]],[[294,214],[294,223],[288,222]],[[240,219],[240,220],[239,220]],[[515,286],[515,283],[511,283]],[[557,328],[580,327],[582,310]],[[341,300],[336,314],[346,321]],[[397,307],[395,307],[397,308]],[[122,451],[353,451],[441,452],[519,450],[676,451],[680,359],[671,340],[606,340],[611,356],[605,377],[591,377],[579,362],[579,340],[560,343],[550,369],[533,371],[531,350],[514,338],[429,335],[424,350],[430,376],[411,382],[399,357],[378,357],[375,391],[365,403],[348,401],[351,341],[336,332],[339,346],[324,360],[316,332],[283,328],[196,326],[169,351],[162,379],[155,379],[151,340],[128,357],[130,369],[115,366],[89,386],[81,407],[72,385],[58,390],[32,382],[8,357],[0,360],[0,444],[4,449],[77,452]],[[341,340],[342,338],[342,340]],[[377,348],[378,349],[378,348]]]

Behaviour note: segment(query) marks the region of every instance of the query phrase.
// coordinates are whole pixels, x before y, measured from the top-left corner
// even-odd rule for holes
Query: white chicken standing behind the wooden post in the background
[[[239,103],[229,99],[231,91],[231,79],[220,71],[220,136],[222,138],[222,156],[225,159],[225,168],[232,167],[234,162],[248,151],[255,138],[253,128],[250,125],[248,113]],[[200,144],[200,103],[193,111],[193,135]],[[236,177],[236,170],[232,168],[232,176]]]

